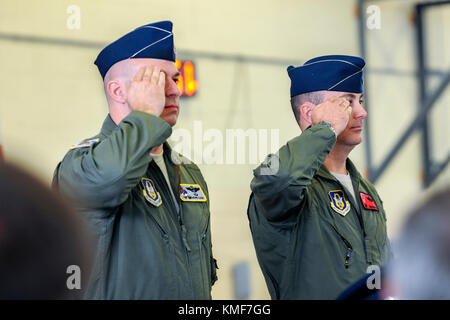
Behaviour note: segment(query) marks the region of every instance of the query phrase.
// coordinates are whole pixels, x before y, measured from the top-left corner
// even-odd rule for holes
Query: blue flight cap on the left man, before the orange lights
[[[149,23],[106,46],[94,64],[102,78],[116,62],[132,58],[153,58],[175,62],[172,22]]]

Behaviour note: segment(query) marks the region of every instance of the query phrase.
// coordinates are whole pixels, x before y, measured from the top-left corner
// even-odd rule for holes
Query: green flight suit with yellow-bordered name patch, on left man
[[[118,126],[108,115],[100,134],[56,168],[54,185],[78,200],[96,235],[85,298],[211,299],[217,277],[208,189],[200,169],[164,143],[171,133],[144,112],[131,112]],[[162,143],[170,186],[150,156]],[[184,184],[199,196],[183,201]]]

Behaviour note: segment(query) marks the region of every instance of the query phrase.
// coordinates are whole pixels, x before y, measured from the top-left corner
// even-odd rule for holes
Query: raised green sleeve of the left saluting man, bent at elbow
[[[68,153],[59,167],[59,188],[82,206],[115,207],[145,174],[150,150],[171,132],[161,118],[133,111],[97,144]]]

